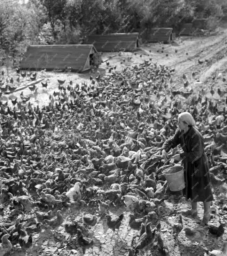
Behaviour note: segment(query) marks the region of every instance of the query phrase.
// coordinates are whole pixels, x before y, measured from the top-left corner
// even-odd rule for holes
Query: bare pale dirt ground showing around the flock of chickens
[[[162,49],[164,47],[164,49]],[[159,50],[159,52],[157,52]],[[163,50],[163,53],[161,51]],[[177,50],[177,53],[175,52]],[[135,55],[136,54],[136,55]],[[140,56],[142,54],[142,56]],[[168,56],[166,56],[168,54]],[[101,75],[108,75],[109,68],[116,67],[116,71],[120,71],[127,66],[132,66],[139,64],[151,59],[152,62],[162,65],[168,65],[171,68],[175,69],[175,72],[172,73],[172,90],[191,90],[193,89],[193,95],[198,96],[198,92],[203,91],[203,97],[205,96],[208,99],[212,99],[214,103],[218,103],[218,108],[223,109],[225,106],[226,95],[223,95],[221,98],[217,93],[218,88],[222,92],[227,92],[227,82],[223,82],[222,78],[226,78],[227,71],[227,25],[224,24],[217,32],[211,33],[209,36],[203,37],[180,37],[177,38],[172,44],[147,44],[140,46],[138,51],[131,52],[122,52],[119,56],[118,53],[103,53],[102,59],[106,60],[109,56],[116,55],[109,59],[109,66],[106,62],[103,62],[98,68]],[[128,60],[128,57],[132,57],[131,60]],[[202,64],[198,63],[199,60],[203,60]],[[123,62],[125,60],[125,62]],[[206,61],[205,61],[206,60]],[[120,64],[122,62],[122,64]],[[192,76],[192,72],[196,72],[196,77]],[[16,72],[15,72],[16,73]],[[189,82],[188,88],[184,88],[183,83],[185,82],[182,78],[183,73],[186,75]],[[216,73],[216,78],[213,80],[212,76]],[[219,74],[221,73],[221,75]],[[219,77],[218,77],[219,74]],[[23,90],[24,96],[31,96],[31,103],[34,105],[39,104],[39,106],[47,105],[49,102],[49,94],[53,94],[54,91],[58,91],[57,79],[65,80],[68,83],[72,80],[73,85],[76,83],[81,84],[81,82],[91,83],[89,77],[97,75],[97,71],[86,72],[86,73],[59,73],[59,72],[46,72],[45,79],[48,80],[47,90],[43,89],[41,83],[37,85],[38,95],[35,98],[29,88]],[[16,76],[15,76],[16,77]],[[37,78],[41,77],[40,72],[37,74]],[[199,83],[197,80],[199,79]],[[196,83],[197,82],[197,83]],[[215,94],[212,96],[210,93],[211,86]],[[19,98],[21,91],[14,93],[13,95]],[[160,104],[163,98],[166,96],[169,101],[170,92],[163,91],[161,97],[157,104]],[[11,94],[12,96],[12,94]],[[180,95],[177,95],[175,99],[181,99],[182,104],[188,104],[192,96],[187,100]],[[8,95],[4,96],[5,100],[8,100]],[[8,101],[10,104],[10,100]],[[195,245],[190,245],[190,241],[185,237],[183,232],[180,233],[179,239],[174,240],[171,233],[171,222],[174,221],[175,212],[179,209],[189,208],[189,202],[185,202],[183,198],[180,200],[175,200],[174,197],[170,197],[165,200],[165,214],[161,216],[161,225],[162,225],[162,238],[164,243],[169,248],[170,256],[202,256],[205,249],[218,249],[221,247],[221,244],[224,240],[227,239],[227,233],[222,236],[220,241],[212,237],[204,239],[200,246],[196,248]],[[214,201],[212,205],[213,211],[216,211],[216,214],[213,215],[211,220],[212,224],[218,225],[218,220],[220,219],[217,201]],[[95,209],[87,208],[87,213],[95,213]],[[127,230],[128,215],[129,211],[126,208],[121,209],[111,209],[111,212],[115,215],[118,215],[122,212],[125,212],[125,217],[123,219],[123,224],[120,227],[119,237],[112,236],[112,231],[107,230],[107,225],[102,220],[99,220],[97,224],[91,228],[91,233],[89,236],[95,237],[95,247],[94,254],[99,256],[120,256],[126,255],[127,248],[131,246],[131,241],[133,236],[136,234],[134,230]],[[199,218],[202,219],[203,216],[203,207],[202,204],[199,204]],[[81,214],[78,216],[73,216],[73,218],[80,219]],[[69,218],[67,212],[64,213],[64,218]],[[227,215],[222,216],[227,221]],[[195,219],[183,217],[183,226],[187,227],[197,227]],[[42,231],[39,235],[34,236],[34,245],[28,253],[24,254],[20,251],[19,248],[16,248],[16,251],[11,254],[12,256],[24,256],[24,255],[34,255],[34,256],[47,256],[47,255],[82,255],[81,251],[76,248],[75,239],[72,239],[68,245],[66,242],[69,240],[69,235],[64,233],[64,227],[58,228],[55,235],[48,230]],[[92,255],[92,250],[87,250],[86,256]],[[152,250],[148,255],[159,255]]]

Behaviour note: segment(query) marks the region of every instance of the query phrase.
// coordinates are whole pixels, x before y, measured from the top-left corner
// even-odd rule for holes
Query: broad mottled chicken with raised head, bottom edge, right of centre
[[[156,228],[151,231],[150,224],[150,222],[147,223],[146,232],[141,235],[135,250],[146,250],[150,246],[154,246]]]

